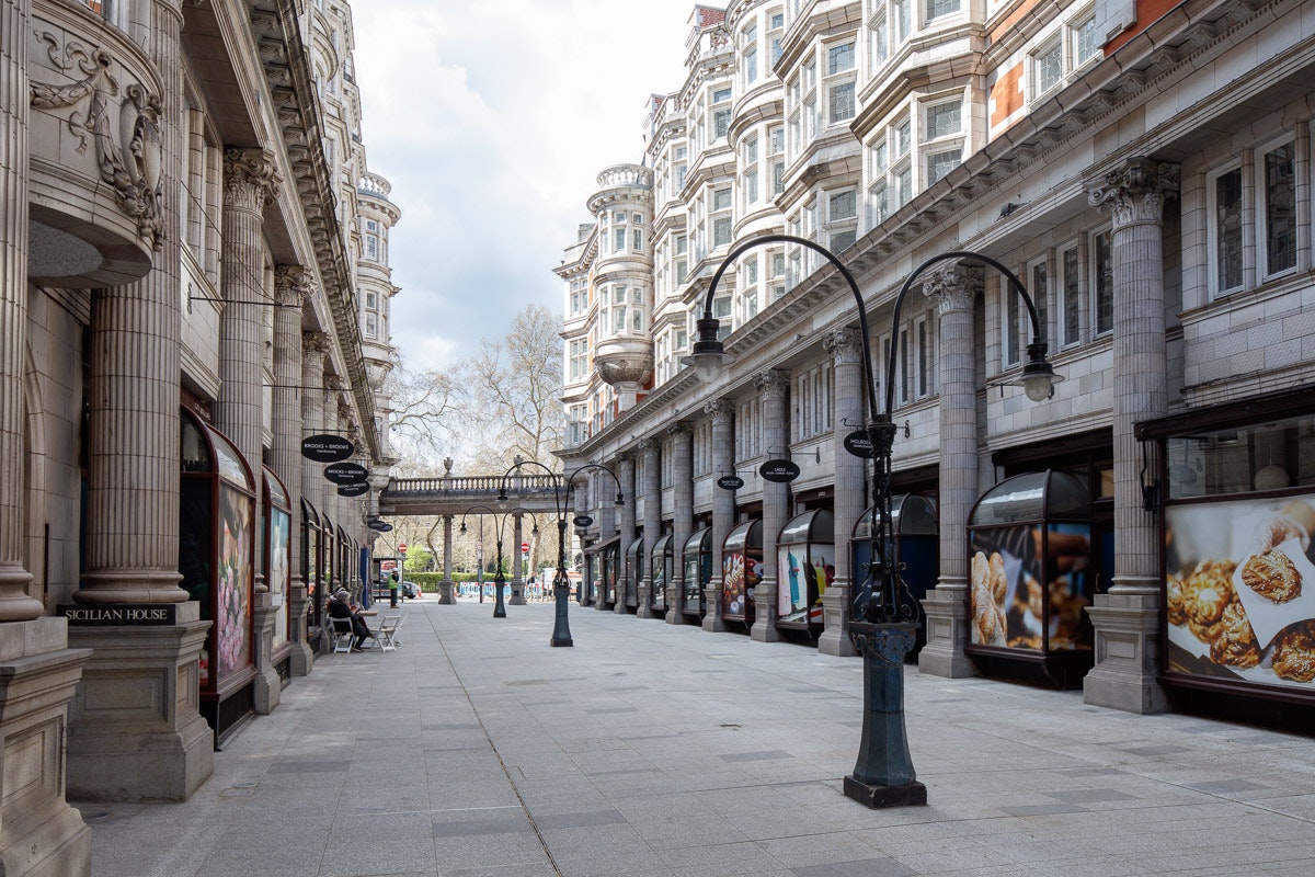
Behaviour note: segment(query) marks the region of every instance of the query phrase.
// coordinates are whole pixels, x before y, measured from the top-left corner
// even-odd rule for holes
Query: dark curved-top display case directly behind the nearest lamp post
[[[853,611],[872,594],[868,567],[872,563],[872,529],[876,506],[868,506],[853,525],[849,539],[849,575],[853,576]],[[894,540],[890,556],[899,569],[899,607],[917,619],[918,635],[910,656],[927,642],[927,619],[922,601],[936,586],[940,576],[940,536],[936,530],[936,505],[924,496],[906,493],[890,498],[890,530]]]

